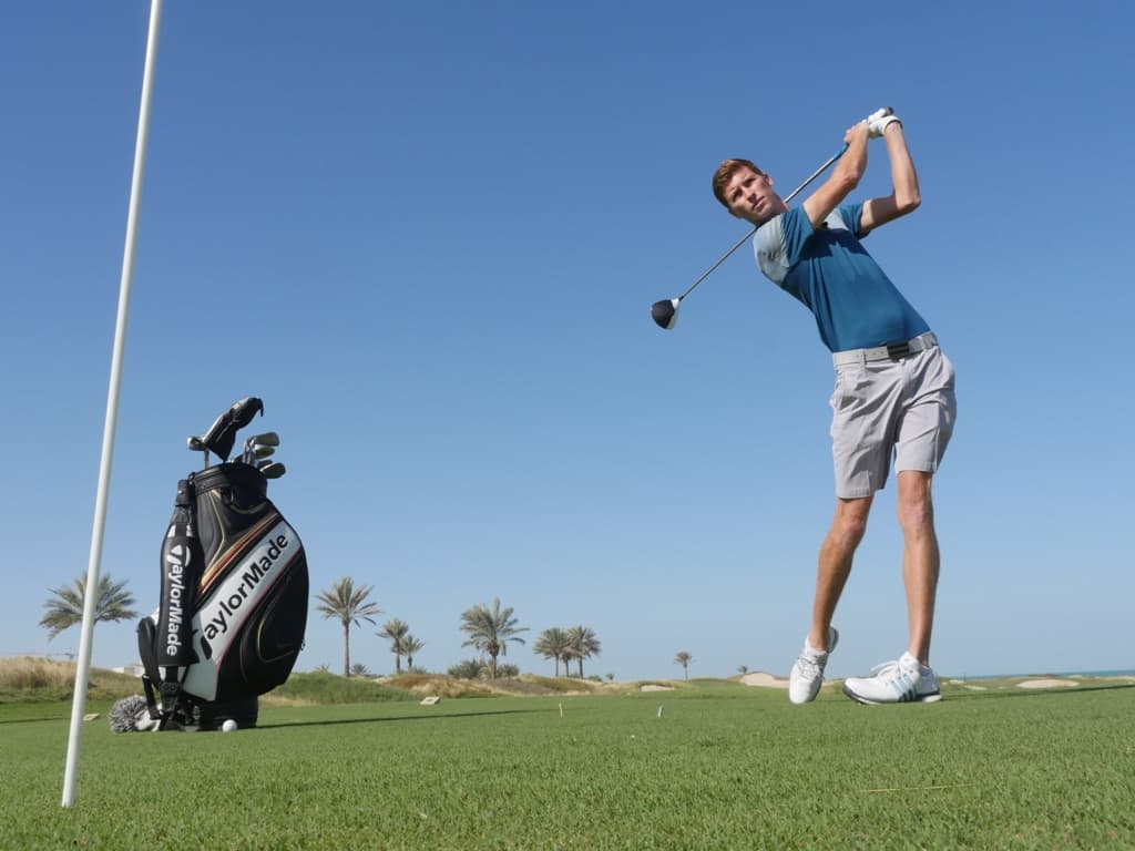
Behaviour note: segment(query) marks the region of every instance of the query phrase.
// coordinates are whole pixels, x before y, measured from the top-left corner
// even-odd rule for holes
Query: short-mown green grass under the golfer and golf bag
[[[829,686],[793,707],[697,681],[266,706],[229,734],[112,733],[103,714],[72,809],[66,708],[0,705],[0,848],[1135,848],[1135,688],[945,694],[860,707]]]

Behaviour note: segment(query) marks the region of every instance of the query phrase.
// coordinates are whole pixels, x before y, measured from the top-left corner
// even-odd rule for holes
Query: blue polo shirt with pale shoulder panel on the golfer
[[[802,207],[766,221],[753,238],[765,277],[816,318],[832,352],[899,343],[930,330],[860,244],[863,204],[844,204],[813,228]]]

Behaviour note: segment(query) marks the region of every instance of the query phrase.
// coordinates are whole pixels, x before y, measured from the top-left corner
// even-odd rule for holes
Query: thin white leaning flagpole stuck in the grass
[[[86,595],[83,601],[83,635],[78,644],[75,671],[75,698],[72,702],[70,735],[67,739],[67,768],[64,772],[64,807],[75,803],[75,775],[78,768],[86,689],[91,676],[91,642],[94,634],[94,609],[99,596],[99,563],[102,558],[102,533],[107,524],[107,495],[110,490],[110,463],[115,455],[115,429],[118,422],[118,390],[123,377],[123,349],[126,345],[126,320],[131,307],[131,281],[134,277],[134,245],[137,237],[138,202],[142,196],[142,174],[145,170],[145,145],[150,128],[150,94],[153,67],[158,56],[158,23],[161,0],[150,2],[150,32],[146,36],[145,70],[142,76],[142,107],[134,146],[134,177],[131,183],[131,205],[126,217],[126,247],[123,252],[123,278],[118,290],[118,320],[115,326],[115,351],[110,362],[110,389],[107,394],[107,420],[102,431],[102,462],[99,465],[99,492],[94,502],[94,529],[91,533],[91,559],[86,568]]]

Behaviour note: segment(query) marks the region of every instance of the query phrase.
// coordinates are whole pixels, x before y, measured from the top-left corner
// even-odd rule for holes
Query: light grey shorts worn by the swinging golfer
[[[838,497],[854,499],[881,490],[892,454],[897,474],[935,473],[942,463],[958,413],[953,364],[933,335],[911,343],[927,347],[893,359],[872,360],[878,354],[874,349],[835,355],[829,404]]]

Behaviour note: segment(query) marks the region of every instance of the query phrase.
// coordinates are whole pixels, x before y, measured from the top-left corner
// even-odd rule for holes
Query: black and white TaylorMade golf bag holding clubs
[[[262,410],[243,399],[188,441],[205,467],[177,483],[158,610],[137,627],[149,716],[162,730],[255,724],[258,697],[287,680],[303,647],[306,555],[268,498],[267,474],[283,464],[258,463],[279,438],[250,438],[228,462],[236,431]],[[210,452],[221,463],[210,465]]]

